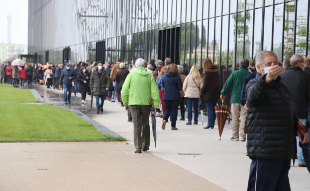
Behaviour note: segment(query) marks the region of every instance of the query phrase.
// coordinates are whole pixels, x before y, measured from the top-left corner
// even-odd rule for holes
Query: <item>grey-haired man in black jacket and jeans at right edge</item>
[[[292,67],[281,73],[281,82],[288,88],[291,94],[291,107],[293,113],[306,125],[308,116],[308,104],[310,101],[310,76],[303,72],[305,60],[300,55],[293,55],[290,63]],[[302,148],[297,137],[298,166],[306,167]]]

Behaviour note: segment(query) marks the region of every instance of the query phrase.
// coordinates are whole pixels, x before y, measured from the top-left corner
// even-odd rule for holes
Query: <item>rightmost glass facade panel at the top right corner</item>
[[[308,0],[299,0],[297,5],[296,51],[295,54],[307,56],[307,14]]]

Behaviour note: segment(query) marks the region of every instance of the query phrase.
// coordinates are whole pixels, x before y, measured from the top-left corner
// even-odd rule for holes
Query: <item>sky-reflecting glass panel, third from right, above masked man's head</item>
[[[282,31],[283,31],[283,4],[275,6],[275,23],[273,34],[273,52],[276,53],[279,60],[282,55]]]

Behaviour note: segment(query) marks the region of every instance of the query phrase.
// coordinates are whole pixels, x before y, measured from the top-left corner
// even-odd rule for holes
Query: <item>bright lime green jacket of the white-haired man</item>
[[[159,105],[156,82],[144,67],[138,67],[127,75],[120,95],[124,105],[150,105],[150,99],[153,99],[154,107]]]

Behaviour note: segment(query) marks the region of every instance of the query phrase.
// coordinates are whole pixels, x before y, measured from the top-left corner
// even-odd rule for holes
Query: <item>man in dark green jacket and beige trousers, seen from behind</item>
[[[249,67],[249,60],[242,59],[240,62],[240,69],[231,73],[231,75],[226,80],[222,91],[220,92],[220,100],[225,99],[225,95],[228,90],[232,89],[231,92],[231,115],[232,115],[232,137],[230,140],[241,140],[245,141],[245,133],[244,133],[244,126],[245,126],[245,117],[246,117],[246,109],[244,106],[240,104],[240,95],[241,95],[241,88],[243,84],[244,78],[250,74],[251,72],[248,71]],[[239,126],[239,118],[241,117],[241,122]]]

